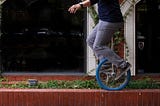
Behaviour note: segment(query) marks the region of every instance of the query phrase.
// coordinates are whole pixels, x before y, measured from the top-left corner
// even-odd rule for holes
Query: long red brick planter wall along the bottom
[[[0,106],[160,106],[160,89],[0,89]]]

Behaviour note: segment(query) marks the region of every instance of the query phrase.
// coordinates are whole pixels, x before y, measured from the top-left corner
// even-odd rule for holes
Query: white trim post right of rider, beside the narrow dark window
[[[121,11],[125,16],[124,35],[129,49],[128,61],[132,64],[131,74],[136,74],[136,38],[135,38],[135,5],[141,0],[125,0],[121,4]]]

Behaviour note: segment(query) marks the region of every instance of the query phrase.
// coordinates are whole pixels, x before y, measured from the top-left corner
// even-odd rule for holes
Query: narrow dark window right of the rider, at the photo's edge
[[[138,73],[159,73],[160,0],[136,5],[136,68]]]

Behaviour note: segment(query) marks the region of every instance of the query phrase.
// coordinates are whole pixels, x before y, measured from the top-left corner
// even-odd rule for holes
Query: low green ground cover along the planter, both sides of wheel
[[[0,88],[20,88],[20,89],[100,89],[95,79],[90,80],[50,80],[38,82],[35,86],[30,86],[27,81],[17,83],[6,83],[7,80],[0,78]],[[131,80],[125,89],[160,89],[160,82],[151,78]]]

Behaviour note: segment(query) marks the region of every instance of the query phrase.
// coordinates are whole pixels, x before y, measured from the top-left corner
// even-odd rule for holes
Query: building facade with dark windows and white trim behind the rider
[[[81,10],[73,16],[68,15],[67,8],[75,2],[74,0],[69,3],[62,0],[39,0],[41,3],[37,4],[30,0],[23,1],[1,2],[1,70],[95,75],[96,59],[85,43],[86,36],[94,27],[88,9]],[[127,51],[124,49],[124,57],[132,64],[132,75],[159,73],[159,64],[156,61],[160,59],[157,51],[160,30],[156,26],[160,24],[160,0],[121,0],[120,4],[125,19],[124,36],[129,51],[129,55],[125,55]],[[40,7],[44,9],[39,11]],[[55,15],[56,13],[58,15]],[[22,27],[23,29],[20,29]],[[17,37],[13,38],[10,35]],[[34,36],[28,39],[29,35]],[[30,47],[26,46],[29,44]]]

